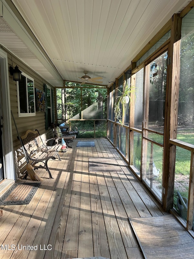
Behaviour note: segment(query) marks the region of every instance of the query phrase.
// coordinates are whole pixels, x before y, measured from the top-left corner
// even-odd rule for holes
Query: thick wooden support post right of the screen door
[[[164,170],[162,206],[165,211],[173,208],[176,146],[169,143],[170,138],[176,138],[179,76],[180,76],[180,38],[182,18],[174,14],[171,19],[171,41],[168,58],[171,58],[167,68],[166,105],[164,122]]]

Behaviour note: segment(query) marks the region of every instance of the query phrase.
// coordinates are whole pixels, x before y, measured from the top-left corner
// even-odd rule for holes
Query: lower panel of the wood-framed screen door
[[[162,199],[163,147],[144,141],[142,180],[159,199]]]

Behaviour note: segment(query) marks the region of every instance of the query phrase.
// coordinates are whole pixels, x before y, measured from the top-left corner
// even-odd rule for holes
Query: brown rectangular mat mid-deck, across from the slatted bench
[[[89,172],[121,172],[115,159],[89,157]]]

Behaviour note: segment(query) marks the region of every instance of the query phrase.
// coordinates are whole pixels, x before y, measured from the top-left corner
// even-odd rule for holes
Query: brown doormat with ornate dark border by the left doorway
[[[39,186],[40,182],[14,183],[0,198],[0,205],[28,204]]]

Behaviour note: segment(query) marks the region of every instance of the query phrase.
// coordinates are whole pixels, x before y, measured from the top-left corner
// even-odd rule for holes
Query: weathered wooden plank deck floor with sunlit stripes
[[[76,147],[77,141],[60,153],[61,162],[49,162],[54,179],[36,170],[43,180],[28,205],[1,207],[0,258],[143,258],[128,217],[165,213],[109,141]],[[88,157],[116,158],[122,172],[89,173]]]

